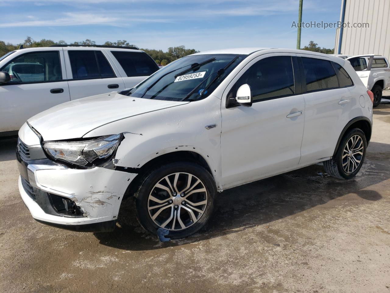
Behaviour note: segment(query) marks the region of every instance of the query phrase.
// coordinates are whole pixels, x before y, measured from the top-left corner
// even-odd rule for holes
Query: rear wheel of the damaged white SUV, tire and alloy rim
[[[358,128],[350,130],[340,141],[336,155],[324,161],[325,172],[338,179],[351,179],[362,167],[367,140]]]

